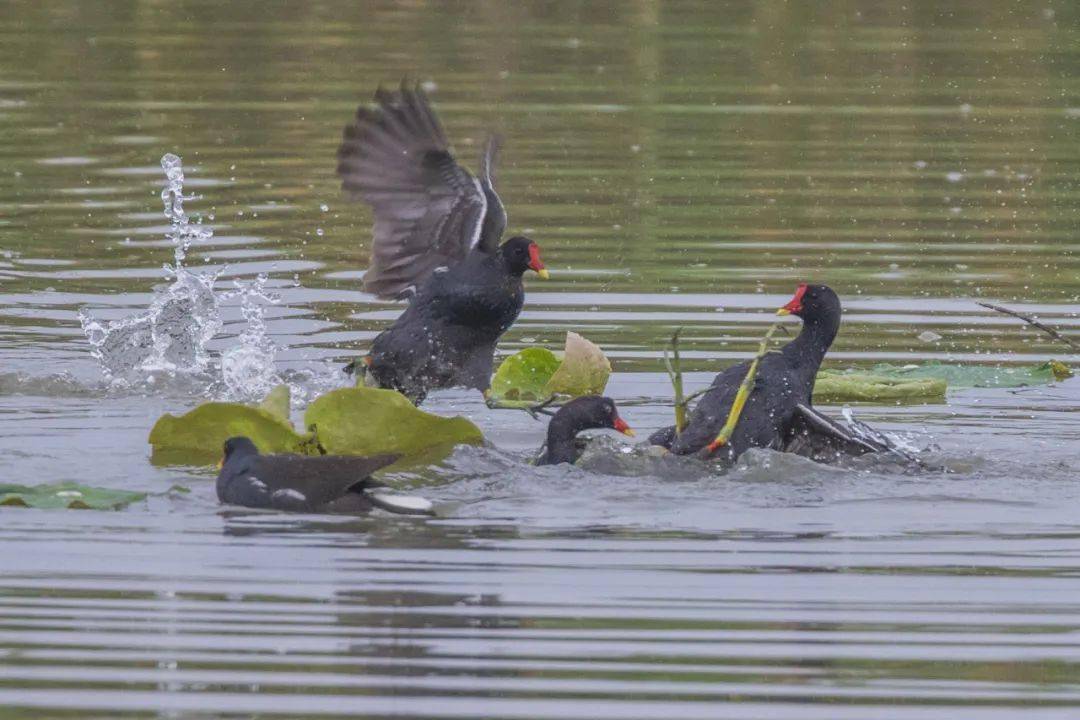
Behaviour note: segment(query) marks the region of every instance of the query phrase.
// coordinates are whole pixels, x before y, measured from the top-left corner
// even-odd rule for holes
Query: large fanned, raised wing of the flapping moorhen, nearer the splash
[[[401,298],[480,243],[487,196],[454,160],[419,85],[380,87],[375,100],[346,126],[337,173],[341,187],[375,213],[364,289]]]

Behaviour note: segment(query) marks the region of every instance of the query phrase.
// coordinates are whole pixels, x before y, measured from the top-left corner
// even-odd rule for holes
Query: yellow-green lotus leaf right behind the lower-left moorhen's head
[[[221,459],[221,446],[235,435],[252,438],[260,452],[318,452],[280,416],[239,403],[206,403],[180,417],[164,415],[150,431],[156,464],[208,465]]]

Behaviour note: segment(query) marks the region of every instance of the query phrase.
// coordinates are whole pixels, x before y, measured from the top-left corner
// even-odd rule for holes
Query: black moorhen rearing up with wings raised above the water
[[[487,391],[495,345],[525,300],[522,274],[548,277],[540,248],[524,236],[499,245],[507,212],[491,181],[495,137],[475,178],[450,154],[419,85],[380,87],[375,99],[346,126],[337,172],[375,213],[364,289],[409,305],[346,370],[418,405],[434,389]]]

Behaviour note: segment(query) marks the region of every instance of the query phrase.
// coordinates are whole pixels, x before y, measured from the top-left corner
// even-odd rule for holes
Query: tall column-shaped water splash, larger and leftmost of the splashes
[[[150,307],[116,321],[99,321],[90,311],[79,313],[91,354],[105,376],[120,383],[141,380],[148,372],[204,373],[211,368],[206,343],[221,329],[217,273],[195,273],[184,267],[191,245],[213,236],[201,220],[191,222],[184,212],[184,166],[166,153],[161,159],[165,184],[161,191],[171,227],[173,264],[164,264],[171,284],[154,294]]]

